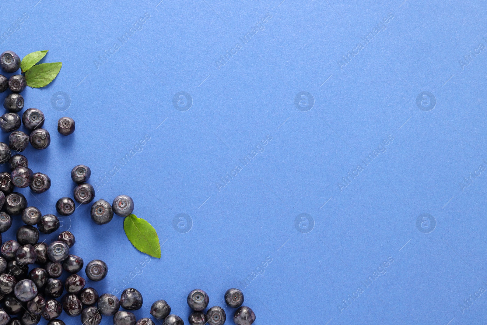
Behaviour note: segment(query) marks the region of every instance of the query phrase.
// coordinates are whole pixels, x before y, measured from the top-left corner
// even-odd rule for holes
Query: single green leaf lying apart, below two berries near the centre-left
[[[159,237],[150,223],[142,218],[137,218],[135,214],[131,214],[125,218],[123,229],[136,249],[152,257],[161,258]]]

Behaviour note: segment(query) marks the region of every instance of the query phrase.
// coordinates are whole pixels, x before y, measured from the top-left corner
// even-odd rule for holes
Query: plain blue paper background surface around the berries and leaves
[[[224,307],[230,287],[243,288],[256,325],[485,319],[487,176],[464,179],[487,167],[485,1],[159,1],[2,2],[1,51],[49,50],[41,62],[63,63],[49,86],[22,93],[52,136],[48,149],[24,153],[52,187],[20,192],[54,213],[73,195],[71,169],[88,165],[95,199],[130,195],[162,244],[161,259],[149,259],[122,218],[97,226],[91,205],[77,207],[59,231],[75,234],[85,263],[109,266],[87,286],[135,287],[137,318],[165,299],[185,323],[190,290]],[[179,92],[191,105],[179,95],[173,105]],[[295,104],[300,92],[308,106]],[[434,107],[431,96],[416,103],[421,92]],[[62,116],[75,134],[56,132]],[[434,219],[417,225],[423,213]]]

